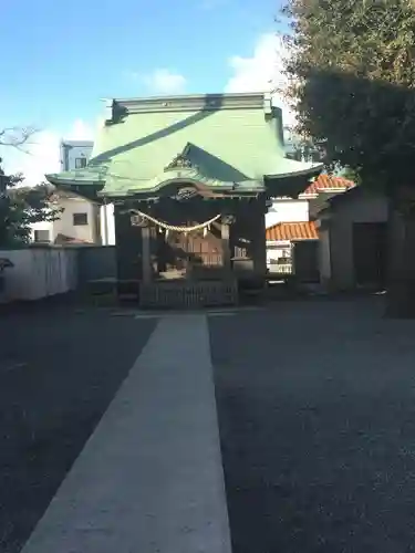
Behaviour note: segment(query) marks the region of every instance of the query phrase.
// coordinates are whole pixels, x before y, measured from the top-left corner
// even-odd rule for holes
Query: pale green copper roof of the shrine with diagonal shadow
[[[151,194],[174,180],[238,194],[262,191],[264,176],[297,174],[305,185],[319,170],[284,157],[281,111],[262,94],[225,94],[113,101],[87,168],[46,178],[94,182],[103,196]]]

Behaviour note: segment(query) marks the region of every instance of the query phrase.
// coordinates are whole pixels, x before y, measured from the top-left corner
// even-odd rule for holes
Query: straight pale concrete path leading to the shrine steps
[[[206,317],[163,319],[22,553],[230,553]]]

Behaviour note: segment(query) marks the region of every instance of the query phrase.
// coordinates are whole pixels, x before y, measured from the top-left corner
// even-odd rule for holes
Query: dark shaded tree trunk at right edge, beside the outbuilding
[[[415,211],[390,200],[386,316],[415,319]]]

